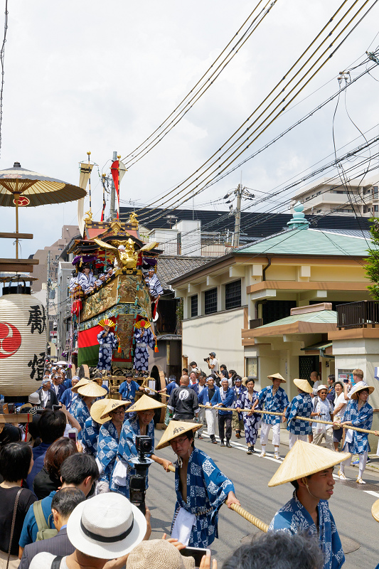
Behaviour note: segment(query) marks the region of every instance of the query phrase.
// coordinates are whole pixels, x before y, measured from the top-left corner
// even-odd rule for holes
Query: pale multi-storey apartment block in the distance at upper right
[[[358,216],[370,218],[379,216],[378,177],[366,180],[351,180],[348,186],[331,184],[324,178],[316,186],[312,184],[295,194],[290,203],[293,209],[297,202],[304,204],[306,215]]]

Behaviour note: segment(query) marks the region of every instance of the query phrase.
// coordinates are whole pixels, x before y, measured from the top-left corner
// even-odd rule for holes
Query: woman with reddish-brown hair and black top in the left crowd
[[[60,467],[63,461],[71,454],[78,452],[75,442],[66,437],[60,437],[53,442],[46,451],[43,469],[33,480],[33,490],[38,500],[46,498],[52,491],[62,486],[60,482]]]

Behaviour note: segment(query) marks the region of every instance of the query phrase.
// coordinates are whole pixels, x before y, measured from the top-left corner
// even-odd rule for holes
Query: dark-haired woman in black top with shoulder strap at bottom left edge
[[[6,567],[6,560],[11,541],[11,526],[14,515],[14,505],[23,479],[26,479],[33,466],[33,453],[26,442],[10,442],[0,450],[0,474],[4,481],[0,484],[0,566]],[[18,541],[21,536],[23,520],[29,506],[36,501],[36,496],[30,490],[23,488],[18,496],[16,521],[11,543],[9,569],[18,567]]]

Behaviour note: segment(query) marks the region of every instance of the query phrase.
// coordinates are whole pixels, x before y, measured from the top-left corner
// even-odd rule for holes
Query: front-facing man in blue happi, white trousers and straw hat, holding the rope
[[[262,405],[265,404],[265,410],[267,411],[274,411],[276,413],[285,413],[287,406],[289,404],[289,400],[287,397],[287,393],[284,391],[282,387],[280,387],[281,383],[287,383],[287,381],[282,378],[280,373],[272,373],[271,376],[267,376],[267,378],[272,380],[272,385],[269,387],[265,387],[260,390],[260,394],[258,395],[258,400],[255,401],[253,410],[260,405],[260,409],[262,409]],[[285,417],[282,418],[284,422],[286,420]],[[260,453],[260,457],[265,457],[266,454],[266,445],[267,440],[269,437],[269,430],[272,427],[272,444],[274,445],[274,458],[279,459],[279,445],[280,445],[280,421],[281,418],[279,415],[263,415],[262,416],[262,427],[260,429],[260,444],[262,445],[262,452]]]

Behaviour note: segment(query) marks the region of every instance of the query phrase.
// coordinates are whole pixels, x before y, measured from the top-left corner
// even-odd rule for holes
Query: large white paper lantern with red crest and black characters
[[[0,298],[0,393],[30,395],[41,385],[46,351],[46,314],[31,294]]]

